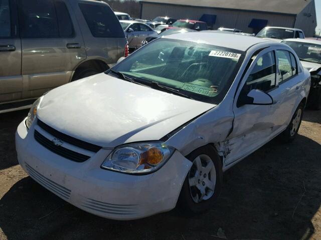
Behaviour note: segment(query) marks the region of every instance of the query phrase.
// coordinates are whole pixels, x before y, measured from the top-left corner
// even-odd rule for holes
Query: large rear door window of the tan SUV
[[[18,0],[18,10],[22,37],[59,37],[52,0]]]

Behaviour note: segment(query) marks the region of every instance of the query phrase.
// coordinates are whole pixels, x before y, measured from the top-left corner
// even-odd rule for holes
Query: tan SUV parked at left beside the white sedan
[[[27,108],[69,81],[107,70],[127,40],[95,0],[0,0],[0,113]]]

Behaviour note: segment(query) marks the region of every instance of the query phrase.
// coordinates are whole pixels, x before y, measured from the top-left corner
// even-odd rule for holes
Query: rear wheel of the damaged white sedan
[[[301,125],[303,110],[304,110],[304,105],[300,103],[296,108],[289,125],[281,133],[281,139],[283,142],[288,143],[288,142],[292,142],[295,139],[295,136],[297,135],[297,132]]]

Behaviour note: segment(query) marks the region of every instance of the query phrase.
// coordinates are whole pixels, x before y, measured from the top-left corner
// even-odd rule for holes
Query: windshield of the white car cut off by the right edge
[[[309,61],[321,64],[321,44],[298,42],[298,41],[282,41],[289,45],[302,61]]]

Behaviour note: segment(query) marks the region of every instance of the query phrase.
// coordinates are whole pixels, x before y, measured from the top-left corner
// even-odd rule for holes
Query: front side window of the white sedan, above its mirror
[[[275,87],[276,64],[274,51],[270,51],[259,57],[254,63],[254,68],[248,76],[245,86],[247,91],[259,89],[268,91]]]

